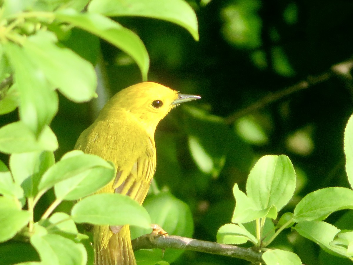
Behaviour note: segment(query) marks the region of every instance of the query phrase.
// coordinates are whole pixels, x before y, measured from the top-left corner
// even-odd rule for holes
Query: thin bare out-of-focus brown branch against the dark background
[[[235,111],[234,113],[230,114],[226,118],[226,122],[227,124],[232,124],[235,122],[235,120],[245,116],[246,114],[259,110],[265,107],[266,105],[269,105],[281,98],[284,98],[285,96],[288,96],[300,90],[304,90],[309,87],[315,86],[316,84],[327,81],[334,75],[339,75],[341,77],[344,77],[345,79],[351,80],[352,75],[350,71],[352,70],[352,68],[353,68],[353,60],[348,60],[339,64],[335,64],[331,66],[327,72],[324,72],[317,76],[309,76],[304,81],[300,81],[299,83],[293,84],[292,86],[286,87],[278,92],[271,93],[263,97],[262,99],[259,99],[254,104],[247,106],[245,108],[242,108],[238,111]]]

